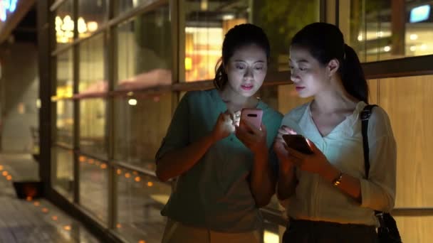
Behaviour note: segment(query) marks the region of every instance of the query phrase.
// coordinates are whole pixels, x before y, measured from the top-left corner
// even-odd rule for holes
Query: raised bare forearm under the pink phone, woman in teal
[[[251,192],[256,205],[264,207],[271,201],[275,193],[276,179],[269,166],[268,151],[254,156],[254,166],[251,171]]]

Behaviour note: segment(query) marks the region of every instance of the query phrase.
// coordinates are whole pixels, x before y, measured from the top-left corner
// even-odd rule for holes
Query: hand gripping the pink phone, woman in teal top
[[[261,129],[257,129],[249,121],[242,120],[239,126],[236,126],[236,137],[254,154],[268,153],[266,145],[266,126],[261,124]]]

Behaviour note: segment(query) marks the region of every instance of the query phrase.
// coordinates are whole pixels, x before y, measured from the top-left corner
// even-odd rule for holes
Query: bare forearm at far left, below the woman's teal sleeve
[[[157,177],[162,181],[167,181],[189,171],[204,156],[212,144],[214,144],[214,139],[209,134],[189,144],[189,146],[166,153],[157,161]]]

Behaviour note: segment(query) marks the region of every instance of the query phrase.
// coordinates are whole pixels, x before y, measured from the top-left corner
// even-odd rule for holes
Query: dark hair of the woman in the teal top
[[[271,46],[263,29],[251,23],[243,23],[231,28],[224,37],[222,43],[222,57],[216,63],[214,86],[218,90],[222,90],[229,81],[224,70],[224,65],[229,63],[229,59],[234,52],[245,45],[255,44],[266,53],[266,58],[269,60],[271,54]]]

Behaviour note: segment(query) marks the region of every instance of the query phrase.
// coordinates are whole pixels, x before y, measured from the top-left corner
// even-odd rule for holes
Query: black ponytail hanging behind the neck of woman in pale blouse
[[[368,103],[368,84],[358,55],[349,45],[344,44],[343,65],[340,67],[341,80],[345,90],[355,97]]]

